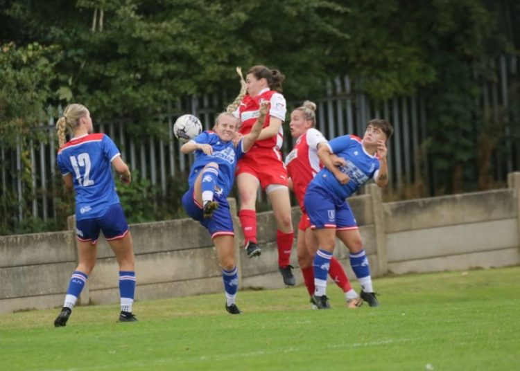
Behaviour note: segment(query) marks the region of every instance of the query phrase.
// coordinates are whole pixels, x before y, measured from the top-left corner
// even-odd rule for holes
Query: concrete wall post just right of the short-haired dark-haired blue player
[[[381,188],[376,184],[369,184],[367,191],[372,200],[372,215],[374,215],[374,230],[376,233],[376,252],[377,252],[377,275],[388,272],[388,257],[386,255],[386,235],[385,219],[383,214],[383,201]]]

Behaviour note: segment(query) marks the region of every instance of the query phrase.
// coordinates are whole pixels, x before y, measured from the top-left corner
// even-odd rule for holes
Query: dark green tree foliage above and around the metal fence
[[[322,98],[322,82],[345,74],[377,102],[424,98],[433,188],[485,189],[505,124],[519,137],[518,82],[499,120],[477,99],[499,78],[492,61],[518,51],[519,15],[512,0],[0,0],[0,136],[8,150],[21,145],[26,207],[37,192],[28,146],[49,105],[128,120],[139,143],[161,135],[167,100],[236,92],[235,66],[266,64],[286,75],[289,102]],[[177,215],[177,181],[166,194],[121,187],[129,219]]]

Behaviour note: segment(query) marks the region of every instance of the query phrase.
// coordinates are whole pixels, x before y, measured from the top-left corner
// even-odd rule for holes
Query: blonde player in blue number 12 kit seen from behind
[[[134,322],[132,314],[135,293],[135,258],[132,237],[125,214],[116,193],[112,166],[125,184],[130,184],[128,166],[112,139],[105,134],[92,134],[89,110],[78,104],[67,106],[58,120],[58,168],[67,188],[76,190],[76,236],[78,237],[78,266],[69,281],[64,305],[56,327],[67,325],[90,272],[96,264],[99,231],[107,239],[119,264],[119,293],[121,314],[119,322]],[[73,138],[65,143],[65,130]]]

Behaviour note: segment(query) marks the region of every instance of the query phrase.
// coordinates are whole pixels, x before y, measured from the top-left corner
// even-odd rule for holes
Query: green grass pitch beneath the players
[[[301,281],[301,280],[300,280]],[[354,286],[357,287],[356,283]],[[1,370],[520,370],[520,267],[374,281],[381,307],[310,310],[303,287],[0,316]]]

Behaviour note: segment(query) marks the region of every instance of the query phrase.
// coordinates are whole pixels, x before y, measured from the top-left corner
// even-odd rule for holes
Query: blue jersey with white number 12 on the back
[[[119,203],[111,166],[119,155],[105,134],[73,138],[58,151],[60,172],[72,174],[77,220],[102,217],[111,205]]]

